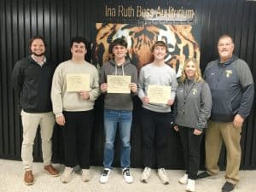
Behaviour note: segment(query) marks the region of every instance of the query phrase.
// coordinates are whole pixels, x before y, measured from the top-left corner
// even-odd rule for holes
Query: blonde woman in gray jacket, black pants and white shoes
[[[200,165],[202,132],[207,128],[212,109],[210,88],[202,78],[198,62],[187,59],[176,90],[174,111],[177,112],[175,131],[183,144],[186,173],[178,183],[187,184],[187,191],[195,191],[195,179]]]

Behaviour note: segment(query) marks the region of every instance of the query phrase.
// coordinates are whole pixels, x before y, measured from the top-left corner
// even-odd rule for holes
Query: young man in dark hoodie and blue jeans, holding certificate
[[[126,183],[132,183],[130,168],[130,135],[132,122],[132,96],[137,93],[137,68],[125,58],[127,54],[127,43],[123,38],[116,38],[109,47],[109,53],[113,54],[113,60],[103,64],[100,84],[102,93],[105,94],[104,104],[104,160],[103,172],[100,177],[100,183],[107,183],[112,169],[114,141],[117,128],[119,128],[120,147],[120,166]],[[131,92],[108,93],[108,75],[131,76],[131,84],[128,86]],[[118,127],[119,124],[119,127]]]

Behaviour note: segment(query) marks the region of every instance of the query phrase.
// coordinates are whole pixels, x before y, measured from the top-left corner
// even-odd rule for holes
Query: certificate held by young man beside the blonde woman
[[[148,85],[149,102],[166,104],[171,98],[171,86]]]

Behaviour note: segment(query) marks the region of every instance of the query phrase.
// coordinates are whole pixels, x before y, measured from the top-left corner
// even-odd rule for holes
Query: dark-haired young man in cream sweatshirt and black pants
[[[90,180],[90,135],[94,122],[94,102],[99,96],[99,77],[96,67],[84,60],[87,52],[85,38],[71,42],[71,60],[62,62],[55,70],[51,89],[53,112],[58,125],[64,129],[65,171],[61,183],[69,183],[73,167],[79,163],[82,180]],[[88,74],[90,90],[67,90],[68,74]]]

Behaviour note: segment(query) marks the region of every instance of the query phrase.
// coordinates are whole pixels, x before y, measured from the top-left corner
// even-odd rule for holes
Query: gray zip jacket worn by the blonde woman
[[[212,110],[212,96],[207,82],[186,79],[184,83],[178,84],[175,108],[177,125],[206,128]]]

